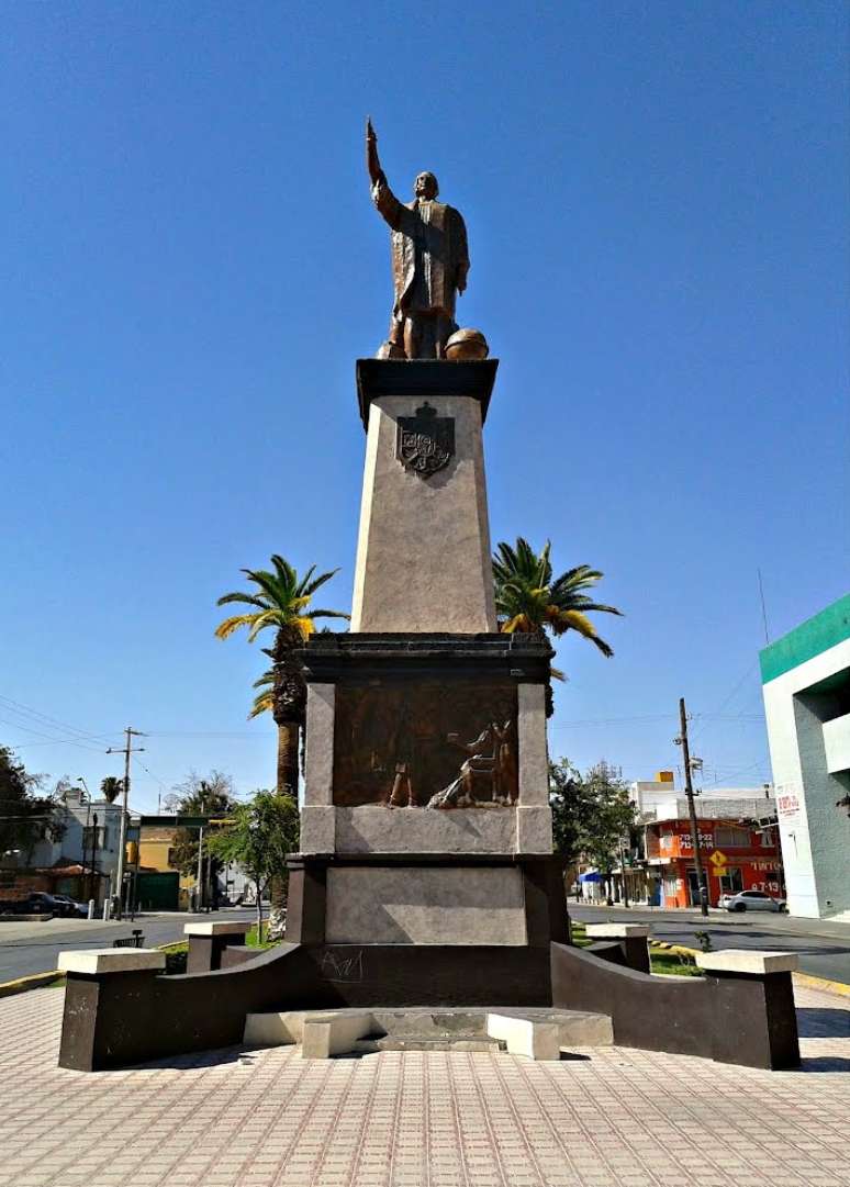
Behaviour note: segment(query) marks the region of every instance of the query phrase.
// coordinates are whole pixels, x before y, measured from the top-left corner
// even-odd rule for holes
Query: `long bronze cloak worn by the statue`
[[[420,198],[402,204],[380,183],[373,199],[392,228],[394,316],[439,312],[453,320],[458,268],[469,267],[459,210]]]

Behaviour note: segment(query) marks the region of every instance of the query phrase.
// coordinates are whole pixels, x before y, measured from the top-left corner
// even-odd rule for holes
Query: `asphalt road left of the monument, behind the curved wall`
[[[59,952],[69,948],[110,948],[113,940],[129,937],[140,927],[145,947],[159,947],[183,939],[183,926],[192,920],[250,920],[253,909],[217,910],[209,915],[185,912],[139,915],[135,922],[122,920],[89,923],[80,919],[53,919],[43,923],[0,922],[0,984],[56,969]]]

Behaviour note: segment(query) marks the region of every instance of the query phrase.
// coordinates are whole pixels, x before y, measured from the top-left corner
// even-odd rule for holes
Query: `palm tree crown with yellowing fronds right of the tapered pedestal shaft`
[[[499,629],[507,634],[522,631],[543,635],[550,630],[563,635],[577,630],[605,656],[614,654],[609,645],[596,634],[589,614],[621,614],[613,605],[603,605],[588,597],[602,573],[590,565],[577,565],[553,579],[550,560],[551,544],[547,540],[537,553],[520,537],[515,547],[501,542],[493,558],[493,577],[496,585],[496,614]],[[553,671],[553,675],[557,675]]]

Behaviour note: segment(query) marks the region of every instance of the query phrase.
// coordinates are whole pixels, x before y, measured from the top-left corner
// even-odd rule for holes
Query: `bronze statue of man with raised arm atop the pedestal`
[[[455,298],[467,287],[469,250],[461,212],[437,202],[437,178],[419,173],[413,202],[401,203],[378,159],[378,137],[366,123],[366,161],[372,201],[392,230],[395,301],[387,343],[389,358],[443,358],[457,330]]]

